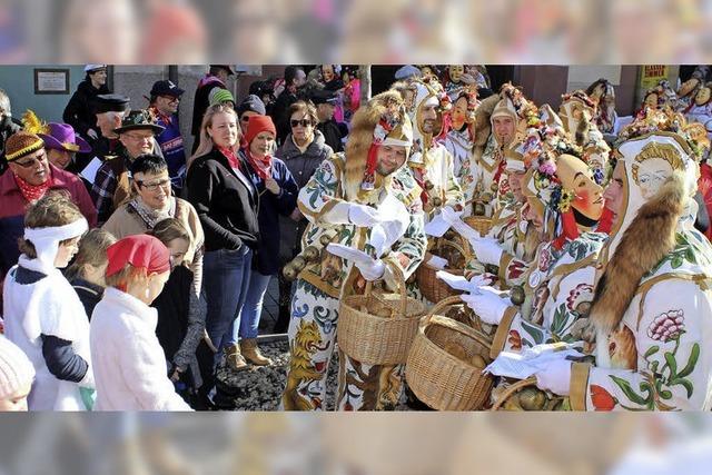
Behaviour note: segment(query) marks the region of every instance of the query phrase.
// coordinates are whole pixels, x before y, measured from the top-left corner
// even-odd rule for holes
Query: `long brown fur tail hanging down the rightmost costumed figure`
[[[623,234],[596,285],[591,319],[599,335],[619,326],[641,278],[675,247],[678,220],[688,199],[684,182],[680,172],[670,177]]]

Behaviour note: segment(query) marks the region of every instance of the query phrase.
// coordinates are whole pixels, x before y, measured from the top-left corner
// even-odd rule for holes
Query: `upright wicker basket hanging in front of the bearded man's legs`
[[[364,295],[344,297],[339,308],[337,338],[339,348],[352,358],[369,365],[397,365],[406,362],[425,305],[406,296],[405,280],[397,273],[399,294],[377,294],[372,283]],[[363,306],[380,304],[392,309],[385,318],[362,311]]]

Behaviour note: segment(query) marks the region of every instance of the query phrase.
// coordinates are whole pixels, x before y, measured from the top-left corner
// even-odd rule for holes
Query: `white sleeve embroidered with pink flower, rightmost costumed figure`
[[[642,299],[634,299],[627,310],[637,315],[637,329],[623,327],[605,342],[613,364],[637,368],[575,364],[571,376],[572,409],[709,409],[709,296],[693,281],[672,279],[654,285]]]

